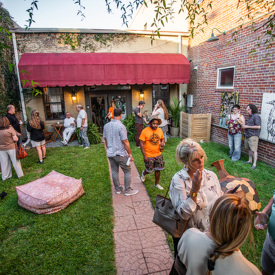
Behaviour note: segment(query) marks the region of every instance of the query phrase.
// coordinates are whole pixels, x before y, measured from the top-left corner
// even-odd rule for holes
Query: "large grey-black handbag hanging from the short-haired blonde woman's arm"
[[[168,186],[168,190],[170,184]],[[155,198],[155,212],[153,223],[159,225],[163,230],[174,238],[180,238],[186,230],[190,218],[186,221],[182,219],[173,207],[172,201],[167,198],[168,190],[165,197],[157,195]]]

